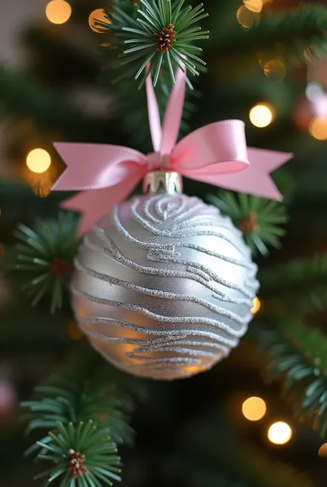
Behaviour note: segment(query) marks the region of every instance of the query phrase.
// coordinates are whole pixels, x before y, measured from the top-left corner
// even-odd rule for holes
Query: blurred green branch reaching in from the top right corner
[[[252,28],[239,27],[217,41],[223,57],[280,55],[288,61],[307,61],[326,53],[327,8],[299,6],[271,14],[262,12]]]

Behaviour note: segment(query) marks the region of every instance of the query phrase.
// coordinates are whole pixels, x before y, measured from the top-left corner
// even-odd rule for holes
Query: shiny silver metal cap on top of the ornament
[[[151,171],[143,179],[143,193],[183,193],[181,175],[175,171]]]

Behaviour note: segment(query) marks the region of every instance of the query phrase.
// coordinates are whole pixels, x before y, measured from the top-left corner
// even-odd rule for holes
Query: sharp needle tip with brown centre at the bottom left
[[[60,479],[59,487],[101,487],[102,482],[112,486],[112,480],[121,480],[116,444],[109,430],[92,420],[66,426],[57,421],[48,441],[37,443],[41,448],[37,459],[54,464],[35,477],[47,478],[44,487],[55,479]]]

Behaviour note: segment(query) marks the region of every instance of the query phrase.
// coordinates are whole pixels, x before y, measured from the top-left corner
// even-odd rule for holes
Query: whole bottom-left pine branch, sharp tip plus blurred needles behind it
[[[102,376],[97,364],[98,356],[85,350],[35,388],[32,401],[21,404],[29,410],[23,417],[28,433],[48,430],[26,451],[54,464],[36,477],[46,477],[45,486],[59,477],[60,487],[99,487],[120,480],[116,443],[132,443],[128,413],[134,404],[126,392],[108,385],[108,368]],[[83,379],[86,370],[88,379]]]

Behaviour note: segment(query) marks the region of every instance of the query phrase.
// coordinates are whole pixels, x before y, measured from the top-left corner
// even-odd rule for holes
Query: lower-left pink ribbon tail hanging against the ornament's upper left
[[[81,191],[61,203],[61,208],[81,213],[78,235],[86,233],[102,216],[109,213],[115,204],[125,200],[139,183],[139,176],[115,186],[96,191]]]

